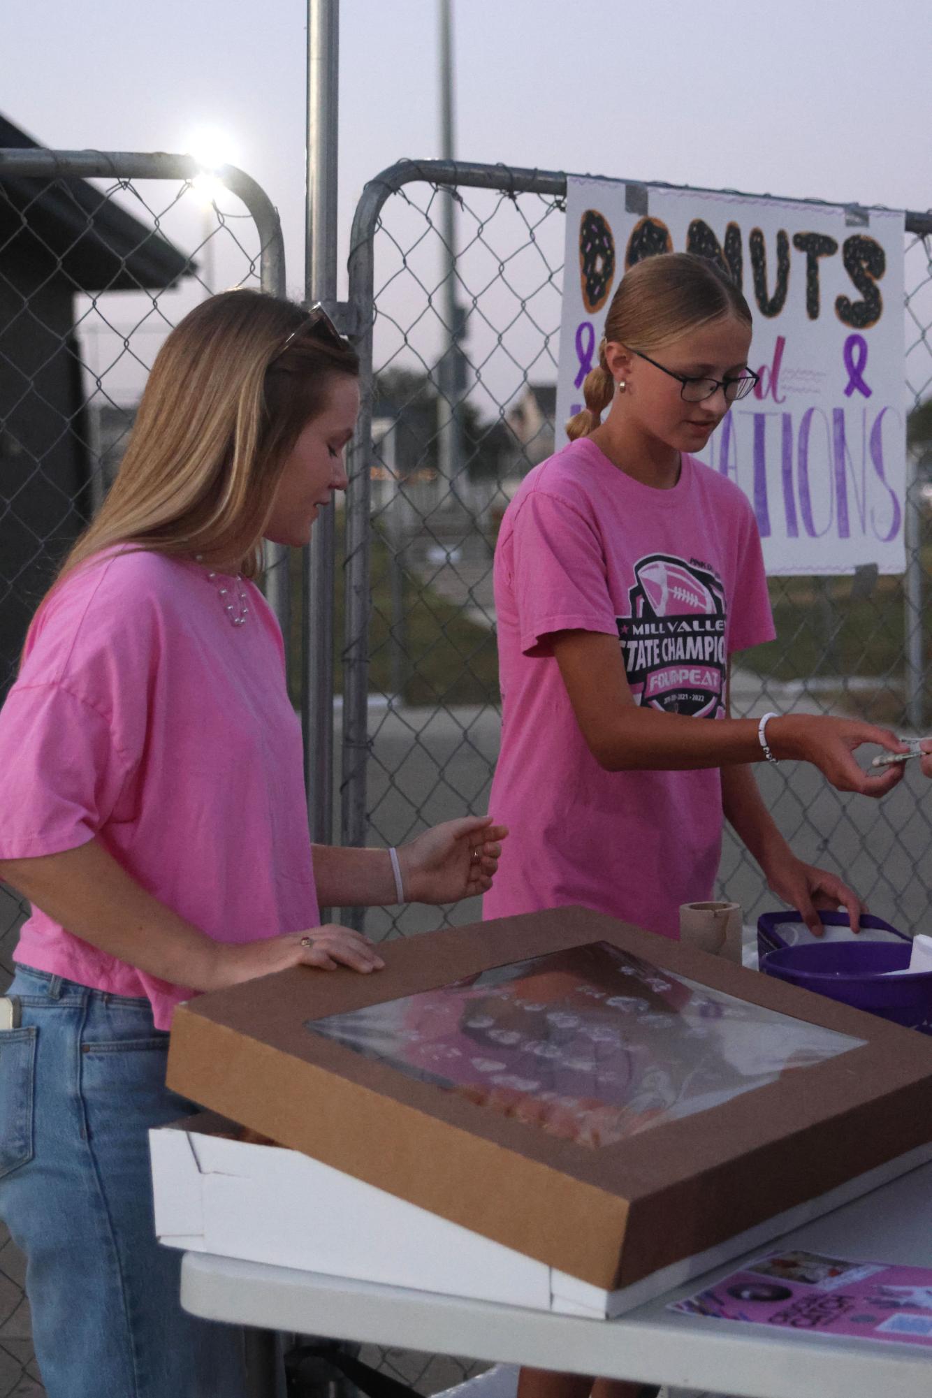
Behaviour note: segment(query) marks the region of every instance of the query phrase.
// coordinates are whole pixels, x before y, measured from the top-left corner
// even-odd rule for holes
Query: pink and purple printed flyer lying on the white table
[[[669,1310],[796,1335],[932,1345],[932,1269],[771,1253]]]

